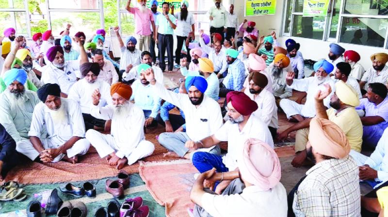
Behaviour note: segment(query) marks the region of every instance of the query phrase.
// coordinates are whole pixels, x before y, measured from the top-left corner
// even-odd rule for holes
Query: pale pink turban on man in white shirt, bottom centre
[[[280,161],[273,148],[258,139],[248,139],[237,159],[243,180],[266,191],[280,182]]]

